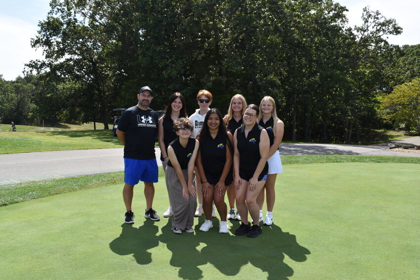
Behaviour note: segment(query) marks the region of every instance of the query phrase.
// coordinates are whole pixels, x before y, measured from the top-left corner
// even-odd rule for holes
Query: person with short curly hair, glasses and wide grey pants
[[[172,202],[172,228],[176,234],[193,233],[194,211],[197,206],[194,181],[194,162],[199,147],[198,140],[190,138],[191,120],[180,118],[173,122],[178,138],[168,146],[168,165],[165,180]]]

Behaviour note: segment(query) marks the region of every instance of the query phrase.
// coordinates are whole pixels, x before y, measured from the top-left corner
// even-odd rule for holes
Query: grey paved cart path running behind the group
[[[420,145],[420,137],[393,143]],[[156,148],[158,164],[160,150]],[[51,178],[73,177],[124,170],[123,148],[53,151],[0,155],[0,186]],[[284,143],[280,155],[365,155],[420,157],[418,153],[393,152],[388,144],[378,146]]]

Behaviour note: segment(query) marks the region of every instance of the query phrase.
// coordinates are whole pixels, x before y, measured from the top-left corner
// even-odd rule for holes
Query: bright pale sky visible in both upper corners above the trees
[[[386,18],[394,18],[403,34],[392,36],[392,44],[420,44],[419,0],[336,0],[349,10],[349,26],[361,24],[363,7],[379,10]],[[23,76],[24,64],[42,58],[42,51],[31,48],[38,22],[46,18],[49,0],[0,0],[0,75],[5,80]]]

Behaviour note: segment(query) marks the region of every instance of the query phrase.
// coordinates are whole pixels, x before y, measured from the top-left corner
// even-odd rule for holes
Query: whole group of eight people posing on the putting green
[[[200,231],[207,232],[213,227],[217,209],[220,233],[228,233],[227,219],[235,219],[242,221],[235,235],[259,236],[261,221],[265,225],[273,223],[274,185],[277,174],[283,171],[278,148],[284,124],[277,118],[274,99],[265,96],[259,106],[247,106],[245,98],[237,94],[223,117],[218,109],[209,108],[212,94],[203,89],[197,94],[199,109],[187,118],[185,99],[175,92],[158,120],[149,108],[152,94],[150,87],[142,87],[138,104],[126,110],[117,129],[125,145],[125,222],[134,223],[131,202],[133,187],[139,181],[144,182],[144,216],[160,220],[152,208],[153,183],[158,181],[154,153],[158,131],[169,200],[164,217],[173,216],[171,230],[176,234],[193,233],[194,217],[204,214]],[[265,197],[267,213],[263,219]]]

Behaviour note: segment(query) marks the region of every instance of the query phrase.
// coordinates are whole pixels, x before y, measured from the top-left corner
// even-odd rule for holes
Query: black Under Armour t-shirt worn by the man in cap
[[[118,122],[118,129],[126,133],[124,158],[153,160],[155,137],[158,132],[158,114],[149,108],[142,110],[137,106],[128,108]]]

